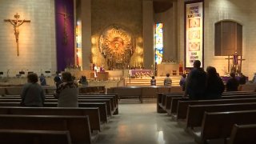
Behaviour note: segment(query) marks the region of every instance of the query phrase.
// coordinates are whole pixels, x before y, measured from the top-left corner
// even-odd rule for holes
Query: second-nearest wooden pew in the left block
[[[88,116],[0,114],[0,130],[69,130],[72,143],[92,142]]]

